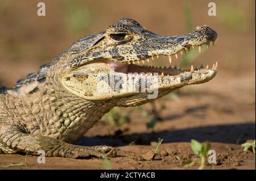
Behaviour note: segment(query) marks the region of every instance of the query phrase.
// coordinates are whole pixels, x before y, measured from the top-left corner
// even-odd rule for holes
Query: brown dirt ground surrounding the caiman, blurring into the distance
[[[124,2],[122,10],[118,9],[118,1],[111,4],[88,1],[81,5],[91,11],[91,23],[84,31],[75,28],[71,31],[66,27],[65,16],[70,11],[60,1],[45,1],[48,14],[44,19],[32,16],[36,12],[36,1],[28,1],[26,5],[10,2],[0,9],[0,84],[4,86],[13,86],[77,38],[104,30],[119,18],[134,18],[160,35],[185,33],[185,1],[160,1],[159,10],[155,9],[156,1]],[[99,121],[76,144],[117,148],[117,157],[108,162],[112,169],[197,169],[199,164],[183,167],[184,162],[195,158],[190,144],[191,139],[195,139],[209,141],[211,149],[216,151],[214,169],[255,169],[255,154],[243,151],[241,146],[246,140],[255,139],[255,2],[216,1],[219,16],[224,16],[222,9],[233,8],[239,12],[236,18],[240,18],[239,27],[220,17],[209,17],[204,2],[191,3],[193,26],[208,24],[218,32],[218,39],[216,45],[201,53],[193,64],[211,65],[218,61],[216,77],[203,85],[184,87],[178,97],[157,100],[156,108],[163,105],[166,108],[160,113],[162,121],[156,123],[154,131],[146,127],[152,117],[143,117],[140,110],[135,110],[130,114],[130,122],[120,127]],[[123,108],[123,112],[130,109]],[[149,111],[151,105],[146,104],[144,109]],[[158,138],[163,139],[161,154],[155,159],[143,160],[143,154],[155,149],[151,142],[157,142]],[[45,164],[38,164],[38,157],[20,154],[0,154],[0,165],[24,162],[25,158],[28,166],[0,169],[106,169],[108,165],[98,158],[59,157],[46,158]]]

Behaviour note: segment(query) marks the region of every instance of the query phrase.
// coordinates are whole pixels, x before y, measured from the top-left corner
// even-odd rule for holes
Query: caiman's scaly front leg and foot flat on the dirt
[[[110,146],[79,146],[65,143],[56,138],[34,136],[26,133],[18,125],[0,124],[0,152],[24,153],[38,155],[39,150],[44,150],[47,157],[99,157],[113,154],[114,148]]]

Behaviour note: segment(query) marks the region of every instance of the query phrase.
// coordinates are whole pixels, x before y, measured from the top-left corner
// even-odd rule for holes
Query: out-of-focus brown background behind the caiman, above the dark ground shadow
[[[191,62],[211,66],[218,61],[218,74],[212,81],[184,87],[156,104],[136,108],[137,113],[133,108],[123,114],[112,110],[104,119],[118,127],[129,120],[143,123],[129,127],[131,132],[146,132],[157,119],[172,121],[156,125],[155,131],[249,121],[255,134],[255,1],[214,1],[217,16],[208,15],[211,1],[204,0],[44,0],[46,16],[37,15],[39,2],[0,0],[0,85],[14,86],[80,37],[105,30],[121,18],[133,18],[164,36],[183,35],[207,24],[218,33],[215,46],[208,50],[204,46],[200,54],[193,50],[173,64],[184,68]]]

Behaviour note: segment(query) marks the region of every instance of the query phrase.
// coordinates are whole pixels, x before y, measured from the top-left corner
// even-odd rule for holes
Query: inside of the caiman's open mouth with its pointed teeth
[[[212,41],[212,44],[214,45],[214,41]],[[206,45],[207,45],[207,48],[209,48],[210,41],[208,43],[206,43]],[[212,66],[210,66],[210,69],[209,69],[208,65],[205,67],[203,65],[201,65],[200,68],[196,68],[193,65],[191,65],[191,68],[189,70],[181,70],[181,69],[178,69],[176,65],[174,65],[174,66],[171,65],[172,60],[174,58],[178,58],[178,53],[183,55],[183,54],[187,53],[188,51],[190,51],[191,47],[192,47],[192,49],[195,49],[195,47],[197,47],[199,49],[199,52],[201,52],[201,45],[199,45],[199,46],[187,45],[186,47],[179,50],[175,54],[169,54],[169,55],[156,54],[156,55],[151,56],[150,58],[147,58],[144,60],[128,61],[128,62],[108,61],[108,64],[109,64],[110,68],[113,69],[117,73],[125,73],[125,74],[128,74],[128,73],[138,73],[138,74],[158,73],[158,76],[160,76],[160,77],[176,76],[176,75],[184,74],[187,72],[207,74],[209,70],[217,70],[217,66],[218,66],[217,62],[216,62],[216,64],[213,64]],[[164,68],[161,68],[161,66],[156,67],[156,66],[147,65],[151,61],[154,61],[157,58],[159,58],[160,56],[168,58],[168,61],[167,61],[168,65],[164,65]]]

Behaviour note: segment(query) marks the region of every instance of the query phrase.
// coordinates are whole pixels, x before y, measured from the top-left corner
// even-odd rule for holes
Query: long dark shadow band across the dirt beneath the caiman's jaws
[[[148,145],[151,141],[157,141],[158,138],[164,139],[163,143],[169,142],[190,142],[191,139],[203,142],[222,142],[229,144],[242,144],[246,140],[255,138],[255,124],[229,124],[214,125],[207,127],[188,128],[181,130],[162,131],[156,133],[136,133],[119,134],[110,136],[83,136],[76,142],[78,145],[112,145],[124,146],[130,142],[138,145]]]

